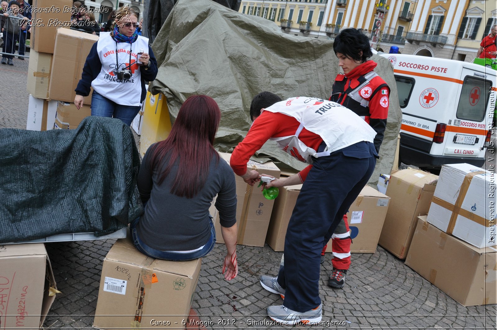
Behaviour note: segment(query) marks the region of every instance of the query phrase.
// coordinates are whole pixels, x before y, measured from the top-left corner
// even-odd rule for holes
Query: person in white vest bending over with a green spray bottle
[[[324,238],[336,226],[373,173],[376,132],[358,115],[338,103],[315,97],[279,96],[262,92],[250,105],[253,124],[233,151],[235,174],[253,185],[263,173],[247,170],[248,159],[268,140],[309,164],[299,173],[276,178],[267,186],[303,183],[285,236],[285,264],[277,277],[260,283],[279,294],[283,305],[269,306],[268,316],[280,323],[319,324],[320,261]],[[266,175],[266,174],[264,174]]]

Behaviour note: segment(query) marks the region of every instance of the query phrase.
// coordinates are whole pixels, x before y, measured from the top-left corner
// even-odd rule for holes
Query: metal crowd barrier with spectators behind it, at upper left
[[[12,19],[15,20],[17,24],[12,23]],[[29,23],[29,20],[12,15],[5,17],[5,20],[6,24],[4,27],[2,26],[3,32],[1,32],[3,42],[0,54],[2,54],[2,61],[4,58],[13,59],[15,56],[22,59],[29,58],[29,56],[25,55],[26,36],[27,30],[29,29],[29,26],[27,26],[27,24]],[[22,29],[23,26],[26,26],[24,30]],[[17,50],[17,55],[15,55],[17,42],[19,42],[19,48]]]

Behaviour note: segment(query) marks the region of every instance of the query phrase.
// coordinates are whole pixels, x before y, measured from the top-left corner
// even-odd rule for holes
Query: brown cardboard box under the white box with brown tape
[[[475,248],[425,220],[418,219],[406,265],[463,306],[497,303],[497,249]]]

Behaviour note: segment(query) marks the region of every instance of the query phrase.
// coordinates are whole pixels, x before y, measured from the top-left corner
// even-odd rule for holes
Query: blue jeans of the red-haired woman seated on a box
[[[216,243],[216,230],[214,229],[214,224],[212,223],[212,218],[210,220],[211,225],[211,237],[204,245],[203,248],[198,251],[189,252],[189,253],[178,253],[178,252],[168,252],[156,250],[155,248],[151,248],[145,245],[142,240],[138,237],[138,233],[136,232],[136,225],[138,225],[138,221],[140,218],[136,218],[129,226],[131,231],[131,237],[133,239],[133,244],[135,247],[142,252],[143,254],[150,256],[155,259],[163,259],[163,260],[173,260],[173,261],[187,261],[198,259],[203,256],[206,256],[213,248]]]

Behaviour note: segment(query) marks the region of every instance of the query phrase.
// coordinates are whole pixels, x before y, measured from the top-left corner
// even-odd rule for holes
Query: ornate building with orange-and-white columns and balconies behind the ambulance
[[[497,17],[495,0],[332,0],[327,8],[321,30],[330,39],[362,28],[377,50],[467,62]]]

